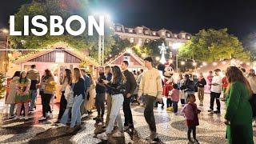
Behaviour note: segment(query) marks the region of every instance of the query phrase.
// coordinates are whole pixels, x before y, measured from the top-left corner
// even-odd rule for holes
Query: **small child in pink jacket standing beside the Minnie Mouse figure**
[[[178,112],[178,101],[179,101],[179,90],[178,90],[178,85],[177,84],[174,84],[173,87],[174,87],[174,89],[170,90],[170,98],[171,98],[171,102],[173,103],[174,114],[177,114],[177,112]]]

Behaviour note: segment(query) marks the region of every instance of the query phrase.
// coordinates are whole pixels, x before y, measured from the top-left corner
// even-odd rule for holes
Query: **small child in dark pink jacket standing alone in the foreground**
[[[197,105],[194,103],[194,94],[189,94],[187,101],[188,103],[182,109],[182,113],[184,113],[186,117],[186,125],[188,126],[187,138],[189,139],[189,143],[198,143],[196,138],[196,126],[199,126],[198,114],[201,110],[198,110]],[[191,130],[193,130],[194,142],[190,138]]]

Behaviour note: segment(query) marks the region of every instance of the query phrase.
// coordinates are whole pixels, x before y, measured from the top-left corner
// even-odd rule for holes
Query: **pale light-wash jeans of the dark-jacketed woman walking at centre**
[[[110,134],[114,129],[114,122],[118,122],[118,130],[122,132],[122,119],[120,115],[120,109],[122,107],[122,103],[124,102],[124,98],[122,94],[114,94],[112,95],[112,107],[110,112],[110,121],[106,127],[106,134]]]

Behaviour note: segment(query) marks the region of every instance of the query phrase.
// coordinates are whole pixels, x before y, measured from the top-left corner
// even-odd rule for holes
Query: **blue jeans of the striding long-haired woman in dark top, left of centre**
[[[83,102],[82,94],[74,97],[74,103],[71,110],[71,123],[70,123],[71,128],[73,128],[76,123],[81,124],[80,106],[82,102]],[[64,114],[62,115],[61,123],[66,125],[68,118],[69,118],[69,108],[66,108]]]

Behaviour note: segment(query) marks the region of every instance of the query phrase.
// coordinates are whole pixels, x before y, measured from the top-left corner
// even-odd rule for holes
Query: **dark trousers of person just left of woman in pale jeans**
[[[105,98],[106,93],[96,94],[95,103],[96,103],[96,109],[98,112],[98,116],[103,117],[105,112]]]

